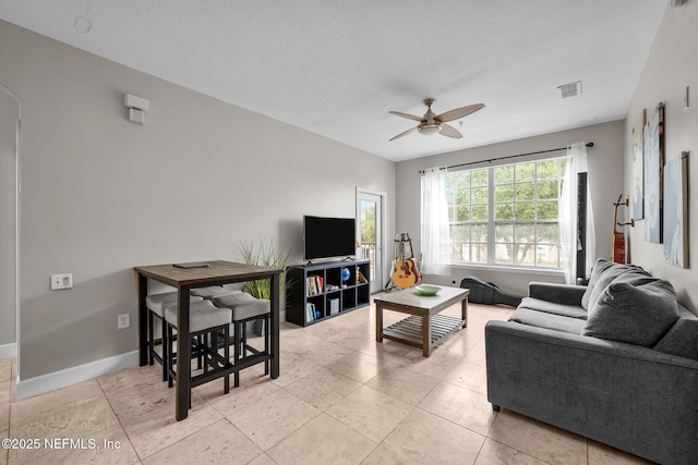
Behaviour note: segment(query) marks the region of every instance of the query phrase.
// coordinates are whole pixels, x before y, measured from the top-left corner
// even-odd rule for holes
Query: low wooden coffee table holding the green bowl
[[[469,289],[442,286],[436,295],[420,295],[412,287],[380,295],[373,299],[375,340],[383,342],[385,338],[422,347],[422,354],[429,357],[441,339],[468,326],[468,294]],[[459,302],[460,318],[437,315]],[[383,328],[384,309],[412,316]]]

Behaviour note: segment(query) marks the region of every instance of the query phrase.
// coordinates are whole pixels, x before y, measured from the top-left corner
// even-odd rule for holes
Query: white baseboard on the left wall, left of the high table
[[[2,348],[2,347],[0,347]],[[17,379],[17,400],[53,391],[81,381],[118,371],[139,364],[139,351],[103,358],[77,367],[67,368],[26,380]]]

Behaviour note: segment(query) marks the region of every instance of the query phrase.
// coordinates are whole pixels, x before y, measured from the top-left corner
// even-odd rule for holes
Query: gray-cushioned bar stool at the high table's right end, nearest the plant
[[[240,364],[246,356],[251,354],[263,354],[269,356],[269,318],[272,305],[268,298],[255,298],[244,292],[236,292],[233,294],[215,297],[213,299],[217,307],[229,308],[232,311],[231,327],[233,331],[233,357],[234,363]],[[263,320],[264,350],[260,351],[248,344],[246,323],[254,320]],[[264,362],[264,374],[269,374],[269,359]],[[240,370],[234,372],[236,388],[240,386]]]

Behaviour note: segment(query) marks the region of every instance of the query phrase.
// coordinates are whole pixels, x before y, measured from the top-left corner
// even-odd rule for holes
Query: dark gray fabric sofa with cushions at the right
[[[698,317],[666,281],[599,260],[587,286],[531,283],[485,326],[488,399],[662,464],[698,464]]]

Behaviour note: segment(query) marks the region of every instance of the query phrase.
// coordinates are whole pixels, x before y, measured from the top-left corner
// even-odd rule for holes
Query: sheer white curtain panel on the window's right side
[[[577,280],[577,250],[581,247],[577,237],[577,174],[587,172],[587,144],[577,143],[567,147],[567,164],[559,195],[559,245],[561,261],[567,284]],[[587,247],[585,278],[591,274],[597,259],[597,240],[591,205],[591,179],[587,176]]]

